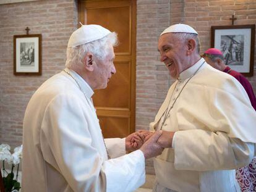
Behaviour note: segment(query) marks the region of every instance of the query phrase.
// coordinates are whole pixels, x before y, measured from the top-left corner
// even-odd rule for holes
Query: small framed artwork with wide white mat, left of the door
[[[41,34],[14,35],[14,75],[41,75]]]

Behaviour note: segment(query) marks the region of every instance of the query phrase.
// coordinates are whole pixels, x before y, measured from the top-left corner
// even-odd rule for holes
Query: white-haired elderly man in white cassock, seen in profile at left
[[[104,140],[93,107],[93,90],[116,73],[116,42],[116,33],[82,25],[70,36],[66,69],[33,94],[23,122],[22,191],[134,191],[145,182],[145,159],[163,151],[161,131],[144,144],[140,133]]]

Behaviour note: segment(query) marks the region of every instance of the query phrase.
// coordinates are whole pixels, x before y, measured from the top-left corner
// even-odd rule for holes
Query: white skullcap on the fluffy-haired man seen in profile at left
[[[82,25],[70,36],[67,48],[74,48],[81,44],[100,40],[109,33],[111,33],[109,30],[100,25]]]

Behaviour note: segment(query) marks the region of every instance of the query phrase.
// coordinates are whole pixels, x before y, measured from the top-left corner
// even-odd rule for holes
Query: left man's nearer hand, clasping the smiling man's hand
[[[155,131],[155,133],[153,133],[153,135],[151,135],[151,137],[145,143],[143,143],[140,150],[143,152],[145,159],[159,156],[162,153],[164,148],[162,148],[160,144],[156,142],[161,135],[162,131]]]

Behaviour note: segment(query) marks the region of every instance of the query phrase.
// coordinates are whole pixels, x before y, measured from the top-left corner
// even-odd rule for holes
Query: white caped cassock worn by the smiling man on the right
[[[176,131],[173,148],[154,159],[155,190],[239,191],[234,169],[255,155],[256,113],[247,93],[231,75],[203,62],[179,75],[150,123],[159,130],[164,111],[173,106],[163,125]]]

